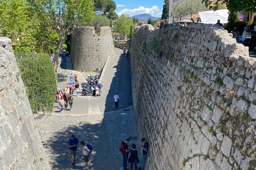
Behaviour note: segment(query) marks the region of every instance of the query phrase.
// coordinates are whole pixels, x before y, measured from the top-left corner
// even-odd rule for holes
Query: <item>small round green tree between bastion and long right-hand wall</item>
[[[130,19],[130,16],[122,14],[116,21],[113,29],[121,35],[125,36],[130,33],[130,25],[133,25],[133,21]]]

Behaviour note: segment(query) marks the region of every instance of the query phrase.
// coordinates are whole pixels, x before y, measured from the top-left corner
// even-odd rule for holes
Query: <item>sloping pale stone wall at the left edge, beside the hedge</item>
[[[11,44],[0,37],[0,169],[51,169]]]

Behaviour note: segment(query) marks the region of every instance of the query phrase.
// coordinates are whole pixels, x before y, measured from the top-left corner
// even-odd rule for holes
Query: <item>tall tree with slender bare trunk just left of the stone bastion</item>
[[[59,37],[54,68],[57,72],[59,54],[67,36],[73,32],[75,25],[90,23],[95,15],[93,0],[27,0],[33,7],[42,28],[47,32],[54,30]],[[47,29],[49,28],[49,29]],[[45,42],[46,43],[46,42]]]

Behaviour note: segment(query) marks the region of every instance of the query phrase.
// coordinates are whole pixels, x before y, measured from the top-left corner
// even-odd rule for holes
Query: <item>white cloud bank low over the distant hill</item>
[[[138,15],[138,14],[145,14],[148,13],[150,15],[153,15],[155,17],[161,17],[162,16],[162,10],[159,9],[158,6],[152,6],[151,8],[140,6],[139,8],[134,9],[123,9],[119,12],[117,12],[117,15],[120,16],[122,14],[127,14],[130,16]]]

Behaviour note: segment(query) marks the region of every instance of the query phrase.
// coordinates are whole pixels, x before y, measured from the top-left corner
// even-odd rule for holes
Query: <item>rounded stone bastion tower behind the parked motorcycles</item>
[[[75,28],[71,37],[71,59],[74,70],[92,71],[102,68],[108,57],[114,57],[110,27],[101,27],[96,35],[93,27]]]

